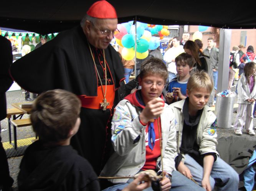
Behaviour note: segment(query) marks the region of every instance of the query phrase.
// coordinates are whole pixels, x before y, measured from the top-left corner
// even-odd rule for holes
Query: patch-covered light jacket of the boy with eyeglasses
[[[101,176],[133,176],[146,160],[145,128],[139,121],[140,109],[124,99],[115,108],[112,119],[112,145],[114,153],[107,161]],[[176,133],[174,115],[165,104],[160,115],[162,126],[162,155],[164,170],[172,174],[175,169]],[[160,157],[157,160],[157,164]],[[161,169],[161,167],[159,167]],[[129,179],[111,179],[112,183],[126,183]]]

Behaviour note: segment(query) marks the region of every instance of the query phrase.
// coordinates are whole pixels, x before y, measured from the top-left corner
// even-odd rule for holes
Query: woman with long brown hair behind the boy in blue
[[[202,51],[199,49],[198,45],[195,42],[193,42],[192,40],[188,40],[184,44],[183,48],[186,53],[194,57],[196,60],[193,66],[193,69],[190,72],[190,75],[192,75],[193,73],[199,72],[201,70],[208,72],[208,65],[207,65],[206,59],[209,57],[202,53]]]

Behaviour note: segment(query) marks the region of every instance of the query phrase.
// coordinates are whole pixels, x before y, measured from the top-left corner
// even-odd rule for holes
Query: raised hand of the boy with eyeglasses
[[[164,100],[160,97],[156,97],[150,100],[145,108],[140,113],[139,117],[143,123],[149,122],[149,120],[159,117],[164,110]]]

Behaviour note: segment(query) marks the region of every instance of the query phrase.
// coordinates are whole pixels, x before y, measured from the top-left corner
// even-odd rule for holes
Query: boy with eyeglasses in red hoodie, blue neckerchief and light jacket
[[[115,108],[112,118],[114,153],[101,176],[134,176],[145,170],[163,172],[161,190],[200,190],[181,173],[175,171],[176,130],[174,115],[166,110],[162,91],[168,71],[162,60],[150,58],[142,63],[140,90],[127,95]],[[161,142],[160,142],[161,141]],[[161,149],[162,146],[162,149]],[[161,162],[162,152],[162,162]],[[109,179],[112,187],[122,189],[132,179]],[[109,183],[109,185],[111,185]],[[148,188],[147,190],[152,190]]]

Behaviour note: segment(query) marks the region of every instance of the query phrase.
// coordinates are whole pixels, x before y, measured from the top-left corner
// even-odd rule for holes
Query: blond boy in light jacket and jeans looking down
[[[235,170],[220,159],[216,151],[216,116],[206,104],[213,82],[201,71],[188,79],[188,97],[168,107],[175,115],[177,130],[176,169],[194,179],[198,185],[213,190],[238,190],[239,177]]]

